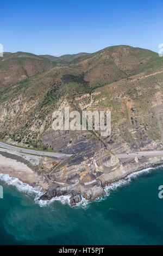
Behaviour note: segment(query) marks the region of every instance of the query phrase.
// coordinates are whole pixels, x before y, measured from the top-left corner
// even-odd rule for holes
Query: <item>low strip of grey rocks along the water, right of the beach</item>
[[[140,163],[136,163],[135,160],[126,164],[125,166],[120,166],[120,169],[113,170],[108,174],[104,174],[98,178],[97,182],[90,184],[89,187],[84,187],[80,185],[79,190],[74,189],[73,186],[66,187],[49,187],[48,191],[41,196],[41,200],[50,200],[53,197],[59,197],[61,195],[70,194],[70,204],[76,205],[84,197],[86,200],[95,200],[96,198],[102,197],[105,194],[104,187],[106,185],[112,184],[116,181],[126,178],[131,173],[139,172],[140,170],[147,168],[154,168],[163,164],[162,157],[145,157]],[[118,173],[119,171],[119,173]]]

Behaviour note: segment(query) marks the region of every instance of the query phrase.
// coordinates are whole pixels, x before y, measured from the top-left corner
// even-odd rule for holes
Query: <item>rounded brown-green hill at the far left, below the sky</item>
[[[14,83],[23,81],[53,68],[54,63],[26,52],[4,53],[0,57],[0,87],[8,90]]]

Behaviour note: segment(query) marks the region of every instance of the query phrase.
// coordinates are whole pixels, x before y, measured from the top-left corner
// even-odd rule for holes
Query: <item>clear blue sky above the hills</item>
[[[35,54],[95,52],[131,45],[158,52],[163,1],[1,1],[4,51]]]

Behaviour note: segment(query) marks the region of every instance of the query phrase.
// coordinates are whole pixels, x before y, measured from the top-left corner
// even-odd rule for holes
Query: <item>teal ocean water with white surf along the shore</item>
[[[1,245],[163,244],[163,199],[158,197],[163,167],[130,175],[106,187],[103,198],[73,208],[68,197],[39,204],[39,191],[0,178]]]

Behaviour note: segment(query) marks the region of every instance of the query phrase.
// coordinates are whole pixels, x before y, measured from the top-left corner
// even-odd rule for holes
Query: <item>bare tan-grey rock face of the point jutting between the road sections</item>
[[[70,204],[73,206],[82,197],[91,201],[105,194],[101,177],[113,168],[120,167],[120,164],[102,142],[93,143],[96,144],[92,150],[71,157],[60,168],[51,171],[51,185],[40,199],[49,200],[54,196],[70,194]]]

